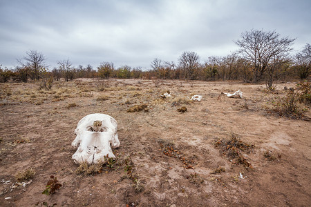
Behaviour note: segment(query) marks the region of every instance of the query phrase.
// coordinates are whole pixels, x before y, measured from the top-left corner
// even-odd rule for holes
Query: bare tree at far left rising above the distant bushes
[[[26,61],[26,63],[23,63],[23,60]],[[26,57],[23,57],[23,59],[17,59],[17,63],[21,64],[23,68],[27,67],[30,69],[30,78],[32,80],[40,79],[40,68],[44,67],[45,61],[46,57],[37,50],[29,50],[26,52]]]

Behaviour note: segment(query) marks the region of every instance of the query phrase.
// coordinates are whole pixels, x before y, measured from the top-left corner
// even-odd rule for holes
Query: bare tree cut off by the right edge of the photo
[[[297,53],[295,61],[300,79],[308,78],[311,68],[311,46],[309,43],[303,47],[301,52]]]

